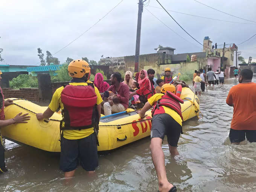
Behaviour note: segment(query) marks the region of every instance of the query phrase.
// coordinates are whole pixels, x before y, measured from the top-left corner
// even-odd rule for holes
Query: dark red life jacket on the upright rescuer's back
[[[61,130],[81,130],[94,127],[98,121],[97,95],[94,85],[66,85],[61,92]]]

